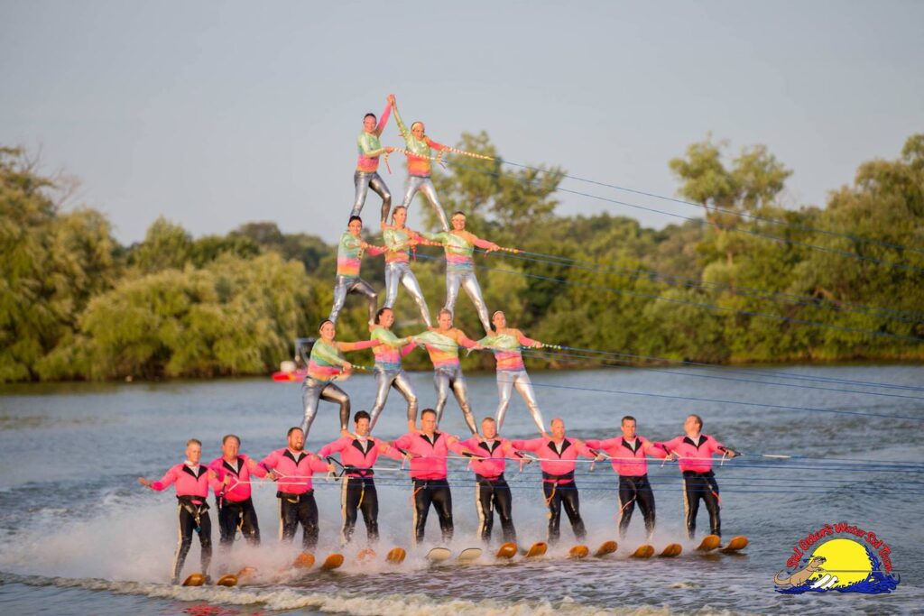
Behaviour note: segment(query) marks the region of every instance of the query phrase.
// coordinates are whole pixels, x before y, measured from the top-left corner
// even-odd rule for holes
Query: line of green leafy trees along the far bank
[[[669,165],[701,218],[660,230],[559,215],[564,169],[511,170],[483,132],[458,145],[495,160],[451,165],[434,183],[469,230],[532,253],[476,257],[488,307],[530,337],[712,363],[924,357],[924,135],[861,164],[825,207],[799,209],[780,205],[792,172],[765,147],[692,144]],[[0,148],[0,381],[264,374],[330,309],[336,248],[317,236],[257,222],[196,238],[159,218],[122,246],[101,212],[63,207],[60,189],[27,152]],[[433,223],[415,204],[408,225]],[[366,257],[362,275],[383,289],[381,259]],[[441,251],[418,248],[412,267],[435,314]],[[347,300],[339,339],[368,337],[359,304]],[[395,315],[399,334],[423,329],[404,294]],[[461,297],[456,324],[478,338],[478,322]],[[357,363],[371,364],[365,353]],[[465,363],[492,368],[488,354]],[[418,351],[406,366],[429,361]]]

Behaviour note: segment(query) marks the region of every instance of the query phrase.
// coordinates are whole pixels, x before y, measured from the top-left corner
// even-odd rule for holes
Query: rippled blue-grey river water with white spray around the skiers
[[[704,378],[711,376],[713,378]],[[423,405],[433,401],[429,373],[411,375]],[[718,377],[718,378],[715,378]],[[343,550],[346,565],[328,574],[274,574],[257,586],[170,586],[176,546],[176,501],[170,492],[141,489],[137,477],[160,477],[183,459],[185,441],[205,443],[203,462],[220,454],[226,432],[242,437],[242,453],[262,457],[285,445],[300,420],[298,383],[263,380],[60,384],[0,389],[0,612],[4,614],[711,614],[920,613],[924,605],[924,368],[917,366],[763,367],[549,371],[532,375],[546,420],[563,417],[568,434],[618,434],[619,417],[638,418],[638,432],[655,440],[682,433],[684,417],[705,419],[707,434],[747,453],[717,466],[723,535],[747,535],[739,556],[694,553],[682,530],[676,465],[650,465],[657,500],[654,544],[681,542],[676,559],[626,558],[644,542],[636,512],[613,558],[565,560],[574,544],[563,515],[562,542],[537,562],[433,568],[411,546],[407,477],[378,474],[379,551],[408,550],[398,566],[359,565],[359,545]],[[493,375],[470,375],[478,417],[496,405]],[[760,381],[760,382],[758,382]],[[770,383],[777,384],[770,384]],[[881,383],[871,387],[868,383]],[[372,380],[343,384],[354,410],[368,407]],[[877,393],[879,395],[871,395]],[[887,395],[883,395],[887,394]],[[698,398],[699,400],[691,400]],[[376,435],[393,438],[405,426],[393,393]],[[749,403],[749,404],[735,404]],[[792,408],[799,407],[799,408]],[[808,410],[812,409],[812,410]],[[824,412],[821,409],[838,411]],[[308,447],[316,451],[337,432],[335,408],[322,405]],[[441,429],[464,433],[450,401]],[[534,427],[515,396],[503,433],[532,438]],[[806,458],[765,458],[759,454]],[[888,465],[885,465],[888,463]],[[917,463],[917,465],[915,465]],[[383,466],[396,466],[391,460]],[[449,547],[478,546],[471,474],[451,463],[456,537]],[[539,479],[529,466],[508,468],[521,544],[545,538]],[[615,477],[598,463],[577,473],[581,511],[593,547],[616,538]],[[317,481],[321,542],[317,553],[340,551],[340,489]],[[280,544],[274,488],[254,486],[263,543],[238,543],[232,569],[243,564],[275,572],[296,550]],[[214,509],[213,509],[214,515]],[[892,549],[901,582],[890,594],[775,592],[773,575],[786,567],[799,540],[825,525],[847,522],[875,532]],[[496,535],[500,532],[495,523]],[[708,528],[700,511],[699,534]],[[357,537],[365,537],[360,520]],[[213,541],[217,544],[217,528]],[[359,542],[358,542],[359,543]],[[810,550],[809,550],[810,551]],[[216,550],[217,553],[217,550]],[[194,542],[184,574],[198,569]],[[215,569],[219,566],[216,559]],[[213,573],[215,573],[213,571]]]

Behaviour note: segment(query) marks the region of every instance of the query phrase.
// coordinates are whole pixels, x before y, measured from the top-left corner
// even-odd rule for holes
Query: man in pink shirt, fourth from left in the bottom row
[[[389,457],[401,460],[404,456],[388,443],[377,441],[369,435],[370,415],[358,411],[353,417],[356,424],[356,438],[345,436],[324,445],[318,455],[330,461],[332,453],[340,453],[340,462],[344,466],[343,489],[340,495],[340,512],[343,516],[341,539],[349,543],[356,529],[357,510],[362,512],[366,523],[366,536],[369,543],[379,540],[379,497],[375,491],[375,472],[372,466],[385,453]]]

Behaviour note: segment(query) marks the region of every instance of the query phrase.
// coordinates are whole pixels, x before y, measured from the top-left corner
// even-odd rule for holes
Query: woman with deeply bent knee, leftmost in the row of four
[[[334,384],[334,379],[348,377],[353,368],[344,358],[343,352],[372,348],[382,342],[379,340],[363,340],[357,343],[336,342],[334,321],[330,319],[322,320],[318,332],[321,333],[321,338],[311,347],[308,374],[301,383],[301,402],[305,407],[305,418],[301,422],[301,431],[308,438],[311,423],[318,413],[318,404],[324,400],[340,405],[340,432],[346,436],[346,424],[349,421],[349,396]]]

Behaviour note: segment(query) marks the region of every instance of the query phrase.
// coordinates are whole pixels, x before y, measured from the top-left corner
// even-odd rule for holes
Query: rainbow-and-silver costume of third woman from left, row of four
[[[426,346],[430,360],[433,362],[433,383],[436,385],[436,405],[434,406],[436,423],[439,424],[443,418],[446,400],[449,399],[449,390],[452,389],[456,395],[456,402],[462,409],[468,429],[472,434],[476,434],[478,429],[475,427],[475,418],[472,417],[471,407],[468,405],[468,387],[465,375],[462,374],[462,367],[459,365],[459,345],[473,348],[478,343],[469,339],[455,327],[446,332],[419,333],[411,336],[411,340]]]

